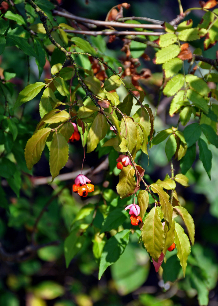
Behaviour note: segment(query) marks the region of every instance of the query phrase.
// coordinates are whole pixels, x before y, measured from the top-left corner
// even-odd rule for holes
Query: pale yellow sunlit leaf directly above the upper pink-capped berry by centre
[[[133,148],[135,147],[137,143],[137,127],[134,121],[129,118],[125,117],[121,121],[121,134],[122,136],[127,140],[128,145],[127,148],[132,152]]]

